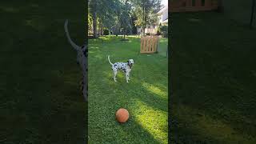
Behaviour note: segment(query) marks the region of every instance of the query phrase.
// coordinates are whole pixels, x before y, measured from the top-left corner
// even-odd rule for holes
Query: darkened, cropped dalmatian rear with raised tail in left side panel
[[[88,96],[88,85],[87,85],[87,72],[88,72],[88,67],[87,67],[87,57],[88,57],[88,48],[86,45],[83,46],[78,46],[76,45],[70,38],[70,33],[67,28],[68,20],[66,20],[64,29],[66,32],[66,37],[68,41],[70,42],[70,45],[74,48],[74,50],[77,51],[77,64],[81,67],[82,69],[82,82],[81,82],[81,90],[82,90],[82,95],[87,101],[87,96]]]

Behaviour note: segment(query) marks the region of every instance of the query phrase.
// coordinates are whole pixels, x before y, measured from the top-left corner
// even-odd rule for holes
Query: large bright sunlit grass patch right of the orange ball
[[[139,100],[135,101],[134,109],[135,121],[137,121],[152,137],[161,143],[168,142],[168,113],[156,110],[152,106],[147,106]]]

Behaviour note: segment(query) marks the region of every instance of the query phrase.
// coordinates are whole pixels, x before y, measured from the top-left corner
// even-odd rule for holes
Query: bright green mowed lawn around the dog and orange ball
[[[103,41],[102,41],[103,39]],[[89,143],[167,143],[168,141],[168,66],[166,55],[139,54],[140,39],[106,36],[89,40]],[[167,39],[159,50],[166,53]],[[118,72],[117,81],[107,60],[134,59],[130,83]],[[126,108],[128,122],[120,124],[115,112]]]

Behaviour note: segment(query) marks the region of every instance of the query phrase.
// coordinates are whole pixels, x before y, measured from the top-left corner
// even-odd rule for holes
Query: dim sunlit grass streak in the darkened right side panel
[[[248,142],[250,138],[247,134],[240,134],[234,130],[232,126],[224,123],[216,118],[212,118],[204,112],[199,112],[189,106],[180,105],[174,114],[182,122],[193,123],[190,129],[196,131],[199,135],[205,138],[216,138],[221,142]],[[256,142],[256,139],[254,139]]]

